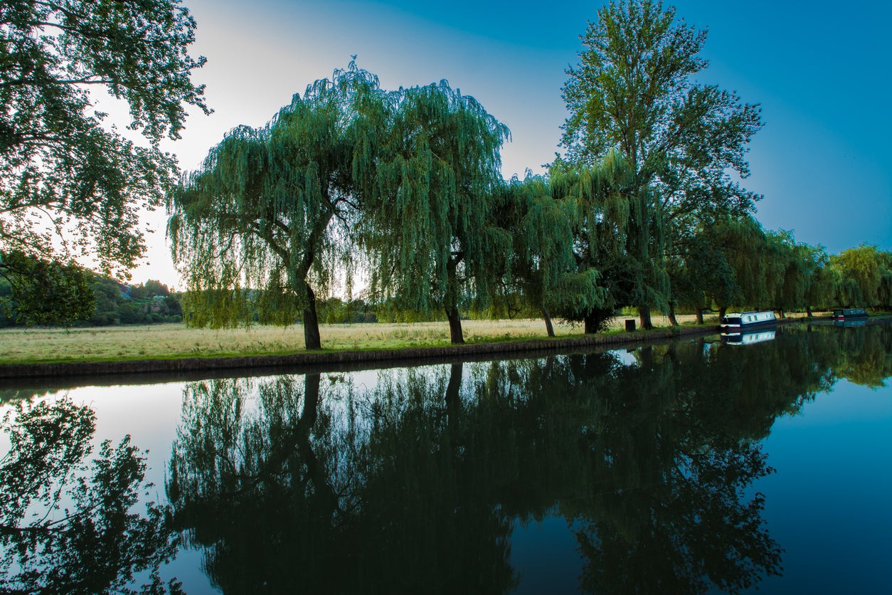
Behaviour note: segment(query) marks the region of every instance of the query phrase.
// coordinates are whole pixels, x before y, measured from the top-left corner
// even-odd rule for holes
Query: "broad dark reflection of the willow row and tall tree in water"
[[[759,440],[888,326],[186,388],[168,492],[224,592],[506,592],[516,523],[574,527],[590,592],[739,591],[780,574]]]

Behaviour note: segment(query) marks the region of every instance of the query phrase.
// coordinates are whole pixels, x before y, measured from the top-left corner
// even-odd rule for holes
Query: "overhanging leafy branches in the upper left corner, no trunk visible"
[[[209,112],[194,29],[178,0],[0,4],[0,261],[90,257],[127,276],[145,252],[138,211],[177,176],[159,142],[179,137],[186,104]],[[127,102],[149,145],[103,126],[91,89]]]

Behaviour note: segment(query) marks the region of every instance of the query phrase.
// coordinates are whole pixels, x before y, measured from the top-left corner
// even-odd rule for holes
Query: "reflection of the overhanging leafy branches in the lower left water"
[[[93,456],[94,412],[67,398],[20,401],[4,417],[0,460],[0,592],[180,592],[159,567],[177,549],[167,507],[134,511],[149,487],[125,437]]]

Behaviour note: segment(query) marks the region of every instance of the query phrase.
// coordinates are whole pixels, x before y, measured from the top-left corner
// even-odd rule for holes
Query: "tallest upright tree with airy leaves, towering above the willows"
[[[592,164],[610,151],[632,163],[628,253],[642,274],[634,305],[651,326],[649,308],[668,293],[663,262],[674,219],[694,211],[751,211],[758,196],[731,180],[748,175],[749,139],[761,128],[757,105],[700,85],[706,31],[676,21],[672,7],[621,0],[599,9],[582,36],[581,62],[567,70],[570,117],[566,161]]]

